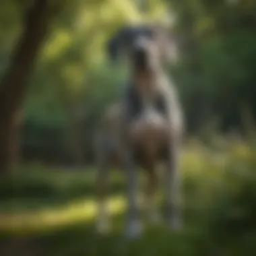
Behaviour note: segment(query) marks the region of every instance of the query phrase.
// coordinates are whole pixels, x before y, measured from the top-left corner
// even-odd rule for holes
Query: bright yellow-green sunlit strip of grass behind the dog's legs
[[[124,208],[125,200],[123,197],[116,196],[108,200],[110,214],[119,214],[123,212]],[[23,234],[51,230],[68,224],[92,221],[95,215],[96,202],[94,199],[87,199],[55,210],[43,210],[27,214],[1,214],[0,231]]]

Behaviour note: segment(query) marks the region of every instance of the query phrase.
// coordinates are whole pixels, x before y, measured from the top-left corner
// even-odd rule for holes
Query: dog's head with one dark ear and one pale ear
[[[125,26],[108,42],[110,59],[121,53],[129,57],[131,67],[137,71],[159,69],[166,60],[176,58],[174,38],[158,25]]]

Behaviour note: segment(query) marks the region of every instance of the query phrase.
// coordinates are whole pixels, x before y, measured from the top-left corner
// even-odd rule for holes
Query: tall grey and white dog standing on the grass
[[[179,155],[183,135],[183,112],[174,85],[164,73],[164,63],[171,58],[172,40],[166,30],[153,24],[121,28],[110,38],[108,53],[117,61],[125,53],[130,75],[120,102],[112,106],[101,124],[97,137],[98,231],[106,232],[108,220],[104,197],[108,172],[115,159],[127,179],[127,227],[125,235],[141,234],[137,200],[137,168],[148,177],[148,212],[157,219],[156,195],[158,162],[164,162],[166,219],[170,228],[181,227],[181,179]]]

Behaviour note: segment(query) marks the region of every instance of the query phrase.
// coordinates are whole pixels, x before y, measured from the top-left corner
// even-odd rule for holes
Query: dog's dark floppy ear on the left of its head
[[[107,42],[107,53],[112,61],[116,61],[131,41],[133,30],[130,26],[120,28]]]

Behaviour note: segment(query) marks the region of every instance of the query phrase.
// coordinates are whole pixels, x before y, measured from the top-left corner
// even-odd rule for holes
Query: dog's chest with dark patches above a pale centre
[[[135,89],[131,90],[130,97],[130,139],[136,148],[154,155],[168,136],[164,97],[156,91]]]

